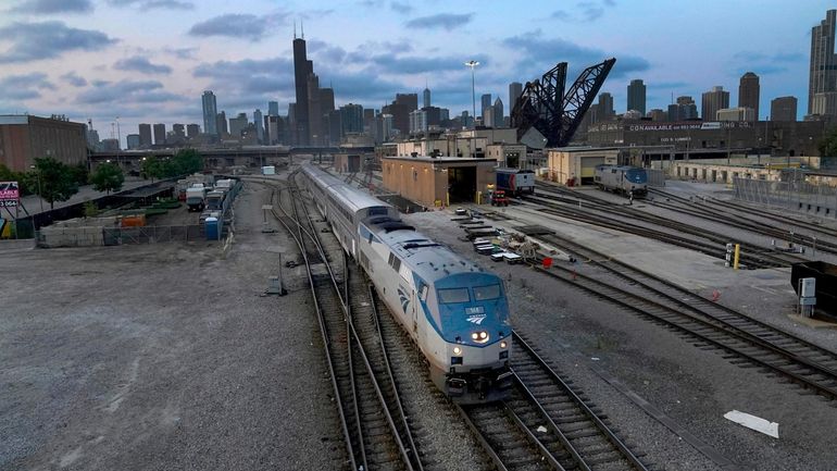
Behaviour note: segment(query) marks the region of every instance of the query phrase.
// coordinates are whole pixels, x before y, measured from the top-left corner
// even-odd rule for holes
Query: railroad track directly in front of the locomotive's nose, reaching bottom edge
[[[513,333],[515,387],[501,404],[460,407],[501,470],[647,470],[607,417]]]

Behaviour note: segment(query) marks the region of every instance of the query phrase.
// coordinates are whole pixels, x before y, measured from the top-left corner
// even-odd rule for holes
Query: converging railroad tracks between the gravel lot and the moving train
[[[290,210],[277,200],[273,215],[296,239],[308,270],[347,448],[346,464],[350,470],[422,470],[412,438],[402,441],[405,418],[401,416],[393,419],[387,405],[388,400],[397,398],[392,395],[397,387],[386,380],[382,381],[382,371],[376,371],[370,362],[371,355],[366,352],[353,323],[353,318],[368,315],[363,308],[364,303],[367,307],[372,302],[368,297],[365,301],[359,299],[363,290],[359,296],[357,290],[349,289],[362,283],[362,275],[346,271],[345,284],[340,283],[292,178],[293,174],[288,179],[291,182],[288,187],[288,196],[292,201]],[[274,196],[275,193],[272,200]],[[310,257],[314,252],[318,253],[318,258]],[[347,296],[349,292],[352,293],[351,298]],[[367,310],[371,312],[371,308]],[[367,333],[365,327],[361,332],[364,335]],[[379,361],[379,355],[375,355],[373,361]],[[391,375],[389,377],[391,381]],[[405,429],[409,434],[409,427]],[[411,444],[409,448],[404,442]]]

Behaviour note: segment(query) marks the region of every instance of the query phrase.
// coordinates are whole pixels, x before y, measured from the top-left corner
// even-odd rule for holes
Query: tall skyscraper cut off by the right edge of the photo
[[[811,28],[811,67],[808,84],[808,114],[813,114],[814,95],[837,91],[837,57],[834,54],[837,10]]]

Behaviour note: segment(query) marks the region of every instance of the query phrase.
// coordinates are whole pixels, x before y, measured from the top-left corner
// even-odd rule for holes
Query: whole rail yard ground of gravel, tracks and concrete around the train
[[[508,207],[464,206],[473,219],[402,214],[429,239],[414,249],[441,244],[504,281],[513,381],[503,400],[460,405],[300,175],[245,177],[226,245],[0,251],[0,469],[837,462],[837,330],[792,315],[789,270],[837,260],[833,220],[683,182],[641,200],[538,183]],[[528,233],[551,267],[477,253],[477,226]],[[739,270],[724,267],[733,241]],[[275,275],[285,296],[265,295]]]

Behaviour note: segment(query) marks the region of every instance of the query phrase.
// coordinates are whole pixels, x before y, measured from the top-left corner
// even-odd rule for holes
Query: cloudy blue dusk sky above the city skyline
[[[309,59],[338,106],[379,109],[396,92],[420,94],[451,114],[510,82],[570,63],[567,83],[615,57],[602,91],[626,108],[642,78],[648,109],[714,85],[738,101],[747,71],[761,78],[760,119],[792,95],[807,111],[811,27],[833,1],[587,0],[277,1],[0,0],[0,114],[93,120],[102,138],[120,117],[123,142],[137,124],[198,123],[211,89],[227,117],[293,100],[291,40],[304,25]]]

